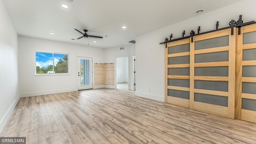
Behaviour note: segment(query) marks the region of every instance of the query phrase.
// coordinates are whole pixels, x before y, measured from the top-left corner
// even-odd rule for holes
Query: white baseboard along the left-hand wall
[[[6,125],[6,122],[10,118],[14,108],[16,107],[18,101],[20,100],[20,95],[18,95],[15,99],[15,101],[12,103],[10,108],[7,110],[7,112],[4,114],[4,117],[0,120],[0,134],[2,133],[2,130],[4,129],[4,126]]]

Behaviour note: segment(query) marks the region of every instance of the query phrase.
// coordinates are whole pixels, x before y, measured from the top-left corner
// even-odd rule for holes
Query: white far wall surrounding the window
[[[20,96],[77,91],[77,56],[92,57],[93,63],[103,63],[103,49],[18,36]],[[35,75],[35,51],[69,53],[70,75]],[[66,87],[67,85],[67,87]]]

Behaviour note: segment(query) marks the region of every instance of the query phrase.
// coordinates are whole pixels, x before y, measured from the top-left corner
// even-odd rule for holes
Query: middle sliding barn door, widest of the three
[[[234,118],[236,34],[231,29],[193,37],[190,108]],[[191,39],[191,37],[190,37]]]

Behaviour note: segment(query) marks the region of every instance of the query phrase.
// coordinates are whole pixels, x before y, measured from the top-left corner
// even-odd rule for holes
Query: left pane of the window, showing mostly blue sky
[[[36,52],[36,73],[53,73],[52,53]]]

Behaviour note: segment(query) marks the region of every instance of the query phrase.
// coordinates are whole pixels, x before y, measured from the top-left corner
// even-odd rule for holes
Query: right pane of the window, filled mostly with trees
[[[55,73],[68,73],[68,55],[54,53]]]

